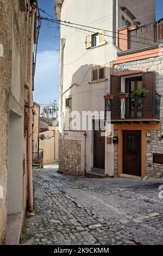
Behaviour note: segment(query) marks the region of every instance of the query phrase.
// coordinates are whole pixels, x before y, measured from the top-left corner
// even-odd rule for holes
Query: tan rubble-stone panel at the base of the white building
[[[59,138],[59,172],[82,175],[81,169],[82,142]]]

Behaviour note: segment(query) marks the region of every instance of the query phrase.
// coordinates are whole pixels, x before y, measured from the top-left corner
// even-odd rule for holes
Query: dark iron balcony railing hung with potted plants
[[[148,92],[141,97],[139,103],[134,103],[131,95],[127,99],[119,99],[114,96],[113,100],[105,100],[105,120],[159,120],[160,100],[158,93]]]

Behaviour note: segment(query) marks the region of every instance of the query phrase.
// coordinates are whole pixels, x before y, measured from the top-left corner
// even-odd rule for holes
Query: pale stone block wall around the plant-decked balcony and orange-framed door
[[[148,71],[155,71],[155,88],[156,92],[160,94],[161,97],[161,109],[160,109],[160,130],[159,131],[146,131],[146,133],[151,133],[151,138],[146,137],[146,174],[163,176],[163,164],[153,163],[153,154],[160,153],[163,154],[163,140],[160,138],[163,135],[163,57],[155,57],[149,59],[138,60],[135,62],[123,63],[114,66],[114,74],[120,71],[136,70],[140,68],[148,68]],[[148,126],[147,126],[148,127]],[[152,139],[156,140],[156,143],[152,143]],[[147,141],[150,140],[150,143]],[[115,153],[117,150],[117,145],[115,145]],[[115,173],[117,169],[115,155]]]

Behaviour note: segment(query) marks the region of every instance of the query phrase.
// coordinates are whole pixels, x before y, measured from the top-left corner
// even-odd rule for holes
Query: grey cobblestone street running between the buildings
[[[35,216],[27,217],[25,245],[163,244],[163,179],[89,179],[34,169]]]

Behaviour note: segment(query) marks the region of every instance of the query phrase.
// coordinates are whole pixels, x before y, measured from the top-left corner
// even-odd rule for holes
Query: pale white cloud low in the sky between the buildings
[[[47,104],[58,100],[59,51],[37,53],[34,101]]]

